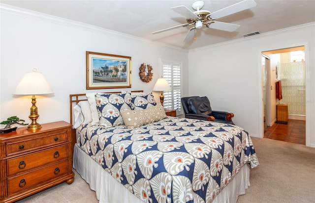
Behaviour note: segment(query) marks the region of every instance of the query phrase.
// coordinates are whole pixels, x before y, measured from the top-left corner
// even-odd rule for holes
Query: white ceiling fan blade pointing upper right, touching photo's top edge
[[[222,18],[224,16],[228,16],[233,13],[237,13],[237,12],[252,8],[256,5],[257,4],[254,0],[243,0],[241,2],[235,3],[233,5],[230,5],[228,7],[222,8],[218,11],[211,13],[211,18],[212,19]]]

